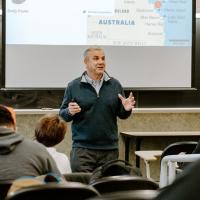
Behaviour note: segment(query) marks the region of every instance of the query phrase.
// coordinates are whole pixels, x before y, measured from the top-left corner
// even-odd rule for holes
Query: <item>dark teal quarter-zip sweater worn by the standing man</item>
[[[117,149],[117,117],[126,119],[131,111],[126,111],[118,98],[124,95],[119,81],[114,78],[104,80],[99,94],[83,77],[70,82],[65,90],[60,116],[72,122],[73,147],[88,149]],[[75,101],[81,112],[71,116],[68,104]]]

